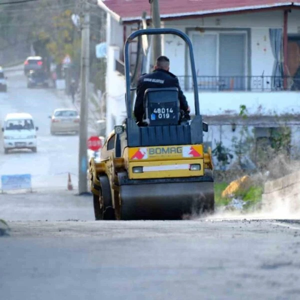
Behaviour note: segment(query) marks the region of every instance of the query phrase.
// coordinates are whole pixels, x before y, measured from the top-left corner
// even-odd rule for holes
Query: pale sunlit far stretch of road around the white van
[[[0,93],[0,124],[10,112],[28,112],[38,126],[37,153],[14,150],[4,155],[0,143],[0,174],[30,173],[34,189],[66,188],[67,173],[77,186],[78,136],[50,135],[49,115],[55,108],[73,107],[70,98],[57,97],[51,88],[27,88],[23,71],[12,70],[8,76],[7,93]],[[2,132],[1,132],[2,133]]]

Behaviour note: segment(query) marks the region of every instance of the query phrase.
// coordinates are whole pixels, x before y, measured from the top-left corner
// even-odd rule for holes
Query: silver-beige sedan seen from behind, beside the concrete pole
[[[50,125],[51,134],[79,132],[80,117],[76,109],[72,108],[58,108],[53,111]]]

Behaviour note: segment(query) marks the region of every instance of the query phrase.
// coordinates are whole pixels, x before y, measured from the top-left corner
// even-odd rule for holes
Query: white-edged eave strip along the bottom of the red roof
[[[194,12],[179,12],[179,13],[169,13],[169,14],[160,14],[161,19],[167,18],[176,18],[176,17],[184,17],[184,16],[197,16],[197,15],[213,15],[219,13],[228,13],[228,12],[241,12],[246,10],[259,10],[259,9],[268,9],[268,8],[280,8],[284,6],[300,6],[300,3],[294,2],[281,2],[275,4],[265,4],[265,5],[253,5],[253,6],[242,6],[242,7],[233,7],[233,8],[223,8],[223,9],[212,9],[212,10],[200,10]],[[147,17],[150,18],[150,17]],[[139,21],[141,17],[123,17],[122,22],[133,22]]]

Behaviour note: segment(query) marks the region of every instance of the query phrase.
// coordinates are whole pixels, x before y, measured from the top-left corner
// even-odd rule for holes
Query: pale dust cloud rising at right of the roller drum
[[[284,155],[277,155],[269,163],[263,172],[256,172],[251,175],[253,184],[264,184],[268,180],[275,180],[284,176],[295,176],[298,181],[294,184],[286,183],[283,189],[271,192],[266,200],[253,205],[250,209],[242,208],[242,200],[235,200],[235,207],[215,207],[214,213],[193,216],[193,219],[300,219],[300,161],[289,160]],[[283,182],[285,182],[283,178]],[[238,202],[240,201],[240,202]]]

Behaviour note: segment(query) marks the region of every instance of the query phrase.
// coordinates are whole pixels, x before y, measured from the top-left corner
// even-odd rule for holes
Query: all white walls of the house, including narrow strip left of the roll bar
[[[217,25],[218,24],[218,25]],[[251,74],[271,75],[273,55],[269,43],[269,28],[283,26],[283,11],[243,13],[196,19],[173,20],[162,22],[164,27],[177,28],[185,32],[186,28],[196,26],[210,28],[251,28]],[[297,33],[300,27],[300,10],[288,14],[288,33]],[[131,33],[131,25],[127,26],[126,35]],[[185,75],[185,43],[174,35],[162,35],[163,54],[170,58],[170,71],[176,75]],[[123,26],[107,14],[107,133],[113,129],[114,122],[120,123],[124,118],[125,82],[122,76],[114,71],[114,60],[122,56]],[[110,47],[110,46],[114,47]],[[133,47],[136,47],[136,44]],[[196,49],[194,49],[196,50]],[[194,113],[193,93],[185,92],[187,101]],[[239,112],[239,105],[246,105],[248,112],[263,114],[300,112],[300,96],[298,92],[199,92],[200,112],[207,115]]]

